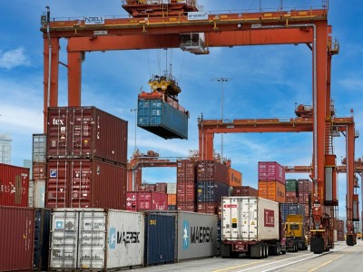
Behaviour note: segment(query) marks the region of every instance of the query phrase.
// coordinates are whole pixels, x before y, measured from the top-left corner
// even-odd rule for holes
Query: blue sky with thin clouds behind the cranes
[[[199,1],[205,11],[240,12],[247,9],[277,10],[281,1]],[[315,1],[283,1],[286,9],[318,6]],[[90,15],[124,16],[121,1],[62,0],[4,1],[0,14],[5,27],[0,31],[0,132],[11,133],[12,163],[31,159],[32,134],[43,131],[43,38],[40,15],[45,5],[51,17]],[[329,24],[337,37],[340,53],[333,57],[331,93],[338,117],[354,109],[356,128],[362,130],[363,22],[360,1],[330,1]],[[344,12],[342,12],[344,11]],[[61,41],[60,60],[66,63],[66,41]],[[197,117],[221,117],[221,83],[212,78],[228,77],[224,85],[224,118],[291,118],[295,102],[311,104],[311,52],[306,45],[240,46],[211,48],[209,55],[182,50],[142,50],[86,53],[83,63],[82,104],[96,106],[129,121],[128,157],[134,148],[134,113],[137,94],[152,73],[166,68],[172,58],[172,73],[179,78],[181,104],[191,112],[189,139],[165,141],[140,128],[137,147],[142,152],[158,151],[162,157],[186,157],[198,149]],[[66,105],[66,70],[60,66],[59,105]],[[221,136],[215,136],[215,150],[221,152]],[[345,140],[334,141],[338,164],[345,157]],[[282,165],[309,165],[312,133],[246,133],[224,135],[223,154],[232,167],[243,173],[243,184],[257,188],[259,160],[276,160]],[[362,140],[356,141],[356,158],[362,157]],[[307,178],[289,175],[288,179]],[[144,169],[147,182],[174,182],[174,169]],[[360,179],[359,179],[360,180]],[[339,175],[339,214],[345,214],[346,177]]]

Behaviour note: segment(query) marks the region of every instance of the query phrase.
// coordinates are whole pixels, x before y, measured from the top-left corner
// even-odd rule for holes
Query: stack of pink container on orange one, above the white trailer
[[[259,161],[259,197],[286,202],[285,169],[276,161]]]

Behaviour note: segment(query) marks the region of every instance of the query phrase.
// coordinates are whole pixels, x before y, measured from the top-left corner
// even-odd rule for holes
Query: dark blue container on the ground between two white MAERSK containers
[[[144,265],[175,262],[176,214],[145,214]]]

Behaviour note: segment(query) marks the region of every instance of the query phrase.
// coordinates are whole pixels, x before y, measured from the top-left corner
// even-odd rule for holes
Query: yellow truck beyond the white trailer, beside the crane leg
[[[308,238],[305,236],[304,216],[289,214],[285,222],[286,248],[289,251],[308,249]]]

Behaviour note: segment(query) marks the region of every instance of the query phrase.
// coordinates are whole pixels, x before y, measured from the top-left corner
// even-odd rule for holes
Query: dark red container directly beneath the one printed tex
[[[46,208],[125,209],[126,168],[102,160],[48,160]]]

